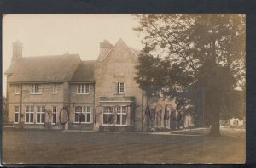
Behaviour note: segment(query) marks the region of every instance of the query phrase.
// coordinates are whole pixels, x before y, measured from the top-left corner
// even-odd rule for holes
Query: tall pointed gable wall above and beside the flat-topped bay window
[[[124,42],[118,42],[108,56],[98,62],[95,67],[96,80],[96,106],[99,105],[100,97],[127,96],[135,97],[136,104],[139,107],[135,111],[136,121],[135,129],[142,129],[142,110],[143,92],[138,88],[134,77],[136,76],[135,66],[137,65],[137,56],[131,52]],[[115,93],[115,82],[125,82],[125,93]],[[113,104],[115,105],[115,104]],[[98,124],[102,125],[102,115],[99,116]]]

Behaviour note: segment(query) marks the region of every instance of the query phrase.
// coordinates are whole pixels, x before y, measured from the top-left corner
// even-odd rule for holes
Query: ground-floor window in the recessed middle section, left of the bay
[[[90,123],[90,106],[76,107],[75,120],[76,123]]]

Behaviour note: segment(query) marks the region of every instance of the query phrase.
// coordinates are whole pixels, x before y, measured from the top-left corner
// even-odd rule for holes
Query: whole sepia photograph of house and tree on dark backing
[[[2,162],[246,162],[246,14],[3,14]]]

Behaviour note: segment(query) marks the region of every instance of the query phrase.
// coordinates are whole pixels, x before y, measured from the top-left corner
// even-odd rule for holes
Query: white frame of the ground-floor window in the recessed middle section
[[[82,123],[82,124],[91,123],[91,107],[90,106],[83,106],[83,107],[77,106],[75,107],[74,111],[75,111],[74,123]],[[76,115],[78,116],[78,120],[76,120]],[[80,115],[84,115],[84,121],[80,121]],[[90,117],[88,117],[88,115],[90,115]],[[88,118],[90,118],[90,121],[88,121]]]

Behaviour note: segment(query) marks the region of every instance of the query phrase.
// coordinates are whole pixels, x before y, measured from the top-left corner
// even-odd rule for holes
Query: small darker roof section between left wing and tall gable
[[[70,82],[94,82],[94,65],[96,61],[81,61]]]

